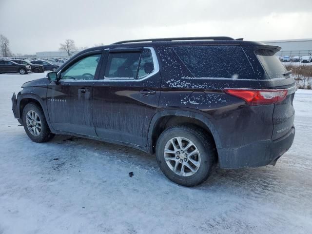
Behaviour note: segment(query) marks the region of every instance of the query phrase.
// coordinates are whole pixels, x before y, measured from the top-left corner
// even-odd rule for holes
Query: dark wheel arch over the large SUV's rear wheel
[[[149,131],[148,131],[148,148],[151,153],[155,152],[155,145],[157,138],[163,130],[169,126],[190,123],[203,128],[208,134],[210,134],[214,141],[216,150],[222,148],[220,137],[215,129],[215,126],[208,117],[202,114],[185,111],[185,110],[164,110],[157,112],[152,118]]]

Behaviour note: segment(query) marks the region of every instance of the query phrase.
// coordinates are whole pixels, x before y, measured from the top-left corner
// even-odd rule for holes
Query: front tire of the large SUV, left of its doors
[[[33,115],[35,113],[35,115]],[[28,115],[28,116],[27,116]],[[35,126],[34,124],[30,124],[29,129],[27,124],[30,123],[31,117],[36,120]],[[50,128],[47,124],[45,116],[43,114],[42,109],[36,103],[28,103],[22,113],[23,126],[27,136],[35,142],[46,142],[51,140],[55,135],[51,133]],[[34,122],[34,121],[33,121]],[[40,124],[39,124],[40,122]],[[34,130],[34,129],[37,129]],[[40,130],[40,131],[39,131]]]

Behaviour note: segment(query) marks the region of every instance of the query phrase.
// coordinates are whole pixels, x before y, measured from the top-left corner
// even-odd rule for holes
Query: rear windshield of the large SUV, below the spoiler
[[[284,65],[275,55],[257,55],[264,70],[267,72],[269,78],[285,78],[283,73],[287,72]]]

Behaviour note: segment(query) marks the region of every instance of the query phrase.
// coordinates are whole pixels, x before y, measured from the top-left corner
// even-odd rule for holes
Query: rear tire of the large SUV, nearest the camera
[[[186,152],[183,152],[181,151],[181,149],[178,149],[179,146],[176,145],[176,150],[180,151],[179,155],[177,155],[176,153],[165,153],[165,149],[168,149],[168,152],[172,152],[169,150],[170,147],[171,150],[174,150],[173,144],[170,143],[170,141],[173,139],[172,142],[177,143],[177,138],[175,140],[175,137],[180,137],[180,139],[183,138],[181,140],[181,143],[182,145],[184,144],[184,147],[188,146],[186,145],[187,140],[189,140],[189,143],[193,143],[194,147],[192,146],[188,150],[186,150]],[[182,147],[182,149],[184,148]],[[196,149],[198,150],[199,154],[195,153],[193,156],[192,154],[189,154],[192,153],[192,151],[196,151]],[[194,125],[178,125],[169,127],[160,134],[156,143],[156,159],[160,170],[170,180],[183,186],[195,186],[201,184],[208,178],[208,176],[211,175],[216,163],[215,152],[216,151],[213,138],[207,136],[207,134],[205,134],[203,130]],[[177,156],[179,157],[178,159]],[[165,157],[167,158],[167,160],[165,159]],[[170,159],[168,160],[168,158]],[[180,166],[178,165],[176,168],[175,166],[177,161],[179,162]],[[168,165],[167,162],[169,162],[170,165]],[[192,162],[194,162],[198,167],[195,166],[195,164],[193,164]],[[184,175],[181,175],[182,163],[184,164]],[[190,166],[195,172],[190,170]],[[176,168],[176,172],[174,172],[174,168]],[[179,168],[181,169],[180,172],[178,170]]]

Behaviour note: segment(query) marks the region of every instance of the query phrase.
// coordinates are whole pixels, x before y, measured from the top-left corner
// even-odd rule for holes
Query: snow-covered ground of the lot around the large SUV
[[[0,75],[0,234],[312,233],[312,90],[296,92],[296,137],[275,167],[217,169],[185,188],[135,149],[32,142],[10,98],[41,77]]]

